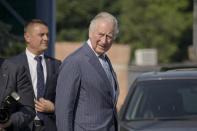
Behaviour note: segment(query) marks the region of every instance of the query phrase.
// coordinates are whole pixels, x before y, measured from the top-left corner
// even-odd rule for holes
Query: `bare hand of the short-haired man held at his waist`
[[[34,100],[34,102],[35,102],[35,109],[38,112],[52,113],[55,111],[54,104],[49,100],[40,98],[39,101]]]

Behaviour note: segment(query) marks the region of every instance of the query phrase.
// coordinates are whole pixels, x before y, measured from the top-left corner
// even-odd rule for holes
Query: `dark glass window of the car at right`
[[[137,82],[126,120],[197,116],[197,80]]]

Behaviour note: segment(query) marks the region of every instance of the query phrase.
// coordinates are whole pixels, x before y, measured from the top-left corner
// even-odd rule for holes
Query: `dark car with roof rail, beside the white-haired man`
[[[197,131],[197,68],[140,75],[119,112],[120,131]]]

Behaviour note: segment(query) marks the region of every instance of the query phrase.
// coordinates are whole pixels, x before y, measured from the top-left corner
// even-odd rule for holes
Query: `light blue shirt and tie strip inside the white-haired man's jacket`
[[[105,58],[104,55],[100,55],[99,57],[101,58],[101,64],[103,66],[103,69],[105,70],[105,73],[107,75],[107,78],[110,81],[111,90],[112,90],[112,93],[114,95],[114,79],[113,79],[113,76],[112,76],[112,72],[110,70],[109,63],[107,62],[107,60],[106,60],[106,58]]]

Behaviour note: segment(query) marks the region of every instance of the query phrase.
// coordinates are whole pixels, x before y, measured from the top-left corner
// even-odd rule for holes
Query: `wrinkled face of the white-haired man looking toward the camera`
[[[107,19],[98,20],[95,30],[89,29],[89,38],[94,51],[101,55],[107,52],[113,42],[114,23]]]

